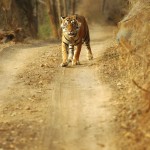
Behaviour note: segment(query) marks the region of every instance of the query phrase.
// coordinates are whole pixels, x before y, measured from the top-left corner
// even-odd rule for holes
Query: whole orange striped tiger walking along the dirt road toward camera
[[[61,29],[61,67],[68,66],[69,62],[72,62],[72,65],[80,65],[79,56],[83,43],[85,43],[86,45],[88,60],[93,59],[93,54],[90,46],[89,28],[84,16],[76,14],[67,17],[61,17]],[[74,46],[77,47],[75,51]]]

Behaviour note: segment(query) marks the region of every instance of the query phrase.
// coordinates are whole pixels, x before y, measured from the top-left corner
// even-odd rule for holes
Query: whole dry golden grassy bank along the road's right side
[[[122,150],[150,149],[150,1],[131,1],[118,24],[118,44],[107,49],[100,66],[114,89]],[[126,141],[126,142],[124,142]]]

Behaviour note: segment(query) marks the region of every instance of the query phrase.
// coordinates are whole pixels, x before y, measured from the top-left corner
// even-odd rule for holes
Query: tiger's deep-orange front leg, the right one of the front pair
[[[79,56],[81,52],[81,47],[82,47],[82,43],[77,45],[77,49],[73,57],[72,65],[80,65]]]

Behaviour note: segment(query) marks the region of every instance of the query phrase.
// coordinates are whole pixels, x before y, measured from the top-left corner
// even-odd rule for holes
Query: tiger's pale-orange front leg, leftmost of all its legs
[[[62,42],[62,63],[60,64],[61,67],[68,66],[68,45]]]

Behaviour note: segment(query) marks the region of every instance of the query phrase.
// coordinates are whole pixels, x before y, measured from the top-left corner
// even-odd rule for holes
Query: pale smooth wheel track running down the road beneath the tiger
[[[45,139],[48,149],[117,149],[111,89],[99,81],[96,72],[97,59],[110,42],[110,33],[108,35],[100,35],[101,39],[104,38],[101,42],[93,37],[93,61],[85,60],[86,51],[83,47],[82,65],[62,68],[55,77],[49,106],[49,127],[46,130],[46,137],[49,138]],[[109,37],[108,40],[105,36]]]

